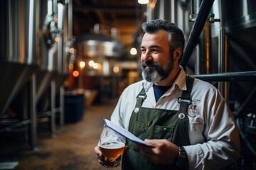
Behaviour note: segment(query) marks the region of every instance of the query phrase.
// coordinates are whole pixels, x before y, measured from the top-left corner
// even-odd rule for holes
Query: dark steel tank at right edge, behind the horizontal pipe
[[[220,22],[212,25],[213,60],[217,72],[249,72],[256,70],[256,1],[215,1],[212,12]],[[218,52],[218,53],[216,53]],[[229,86],[228,98],[244,103],[256,86],[255,81],[235,81]],[[256,98],[247,109],[256,111]]]

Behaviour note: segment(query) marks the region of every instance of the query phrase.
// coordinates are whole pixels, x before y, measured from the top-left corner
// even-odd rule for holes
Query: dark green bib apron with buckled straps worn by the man
[[[129,121],[129,132],[142,140],[166,139],[178,146],[191,145],[188,136],[187,108],[191,103],[191,89],[193,77],[186,76],[187,91],[183,91],[179,111],[164,110],[159,108],[143,108],[142,103],[146,98],[143,88],[137,96],[137,103]],[[176,164],[154,164],[139,153],[139,147],[134,142],[127,140],[129,150],[123,154],[122,169],[124,170],[164,170],[178,169]]]

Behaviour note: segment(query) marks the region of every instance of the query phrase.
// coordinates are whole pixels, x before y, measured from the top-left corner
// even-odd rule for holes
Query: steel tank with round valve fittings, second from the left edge
[[[68,4],[65,1],[41,1],[39,16],[40,49],[39,69],[36,72],[36,89],[38,110],[49,109],[49,95],[47,89],[55,81],[58,89],[67,77],[65,67],[68,60],[64,57],[64,45],[68,41]],[[65,66],[65,67],[63,67]]]

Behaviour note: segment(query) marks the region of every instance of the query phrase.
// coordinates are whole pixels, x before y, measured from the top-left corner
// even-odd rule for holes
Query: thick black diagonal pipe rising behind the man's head
[[[188,59],[191,56],[191,53],[193,52],[194,47],[196,47],[196,45],[198,43],[198,38],[201,34],[201,31],[203,30],[203,26],[206,23],[208,14],[210,13],[210,9],[213,6],[213,2],[214,2],[214,0],[203,0],[203,2],[201,4],[201,8],[198,12],[198,16],[196,18],[195,23],[193,24],[193,28],[188,37],[188,42],[187,42],[186,48],[184,50],[183,57],[181,58],[180,64],[183,67],[188,62]]]

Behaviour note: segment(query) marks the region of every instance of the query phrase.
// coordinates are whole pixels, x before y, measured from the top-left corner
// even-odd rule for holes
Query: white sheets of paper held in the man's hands
[[[107,125],[107,127],[118,132],[120,135],[127,137],[129,140],[132,140],[132,142],[136,142],[141,145],[146,145],[143,140],[139,139],[139,137],[136,137],[131,132],[129,132],[128,130],[125,130],[124,128],[120,127],[119,125],[112,123],[110,120],[104,119],[104,122],[105,122],[105,125]]]

